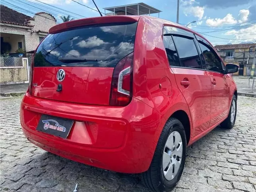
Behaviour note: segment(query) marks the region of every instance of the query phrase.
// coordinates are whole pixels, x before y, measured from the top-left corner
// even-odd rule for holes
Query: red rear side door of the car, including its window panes
[[[192,33],[172,28],[164,30],[164,45],[177,85],[185,97],[196,136],[209,128],[211,79],[202,69]]]

